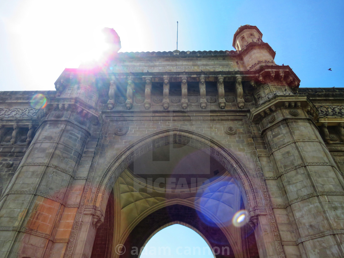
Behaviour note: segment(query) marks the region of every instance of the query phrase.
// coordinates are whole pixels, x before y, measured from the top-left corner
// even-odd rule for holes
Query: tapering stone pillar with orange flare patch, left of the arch
[[[75,182],[78,165],[100,117],[94,88],[71,83],[37,114],[41,124],[0,202],[1,257],[63,256],[85,182]]]

